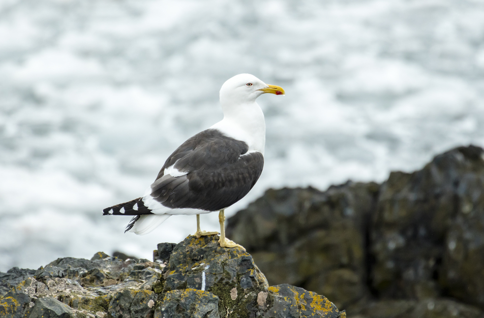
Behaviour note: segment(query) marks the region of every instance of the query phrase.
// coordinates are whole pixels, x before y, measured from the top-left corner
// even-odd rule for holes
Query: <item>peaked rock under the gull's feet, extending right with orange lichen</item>
[[[283,316],[278,317],[305,317],[307,313],[325,318],[339,317],[340,312],[333,303],[316,293],[294,286],[290,291],[286,286],[270,289],[250,254],[240,248],[220,248],[217,240],[218,236],[214,235],[200,239],[189,236],[179,243],[168,262],[163,292],[186,289],[209,291],[218,299],[221,317],[272,317],[274,310],[283,310],[289,315],[280,314]],[[309,302],[306,311],[292,310],[305,296]],[[328,310],[322,315],[318,313],[322,307],[310,306],[313,303],[324,303]],[[290,316],[294,314],[292,312],[299,316]]]

